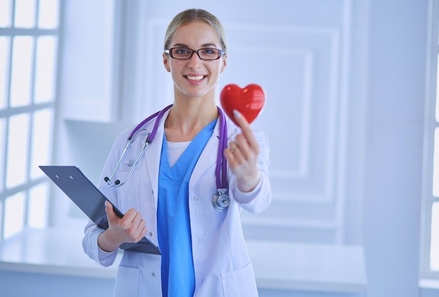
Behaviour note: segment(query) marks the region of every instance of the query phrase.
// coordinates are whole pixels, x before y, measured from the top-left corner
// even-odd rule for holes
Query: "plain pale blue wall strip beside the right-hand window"
[[[370,1],[364,244],[368,296],[419,296],[427,1]]]

